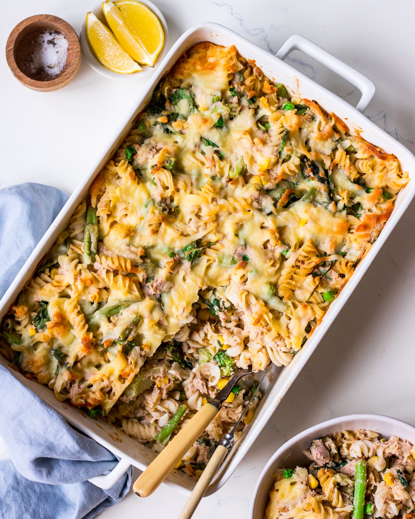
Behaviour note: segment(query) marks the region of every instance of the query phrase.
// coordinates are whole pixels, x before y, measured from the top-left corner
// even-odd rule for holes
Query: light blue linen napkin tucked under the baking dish
[[[41,184],[0,189],[0,297],[67,199]],[[91,519],[128,493],[132,468],[108,490],[86,481],[112,470],[117,458],[1,365],[0,409],[0,436],[11,458],[0,461],[3,519]]]

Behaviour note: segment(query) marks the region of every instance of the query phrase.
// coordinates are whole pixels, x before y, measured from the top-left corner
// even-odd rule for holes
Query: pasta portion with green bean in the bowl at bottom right
[[[266,519],[411,519],[415,449],[365,429],[314,440],[309,467],[278,469]]]

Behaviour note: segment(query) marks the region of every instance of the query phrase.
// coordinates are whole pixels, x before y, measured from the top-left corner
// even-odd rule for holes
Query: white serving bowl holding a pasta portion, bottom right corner
[[[310,427],[310,429],[300,432],[297,436],[284,443],[268,461],[264,470],[262,470],[254,491],[251,519],[264,519],[269,503],[269,491],[273,484],[273,474],[276,469],[281,467],[294,469],[297,465],[300,467],[307,466],[310,460],[302,451],[308,449],[313,440],[333,434],[336,431],[353,431],[355,429],[370,429],[371,431],[379,432],[386,439],[389,439],[390,436],[399,436],[399,438],[415,444],[415,427],[396,418],[383,415],[340,416],[339,418],[333,418],[333,420]]]

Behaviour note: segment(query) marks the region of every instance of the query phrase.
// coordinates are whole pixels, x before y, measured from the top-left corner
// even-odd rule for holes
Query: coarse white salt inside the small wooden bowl
[[[58,76],[65,66],[68,40],[59,31],[44,31],[33,42],[31,60],[28,63],[33,74],[45,71]]]

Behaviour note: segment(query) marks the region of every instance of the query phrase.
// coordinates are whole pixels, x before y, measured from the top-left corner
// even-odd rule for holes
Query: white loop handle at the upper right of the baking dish
[[[284,60],[293,50],[304,52],[307,56],[319,61],[328,69],[336,72],[336,74],[347,79],[349,83],[357,87],[362,92],[362,97],[357,103],[356,109],[359,112],[363,112],[366,109],[376,92],[376,86],[370,79],[299,34],[294,34],[287,39],[275,56]]]

